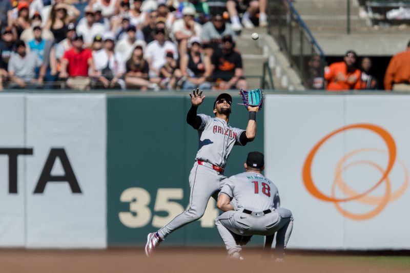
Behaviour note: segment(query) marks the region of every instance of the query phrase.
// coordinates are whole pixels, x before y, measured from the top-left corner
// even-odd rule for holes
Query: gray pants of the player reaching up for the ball
[[[195,162],[189,175],[190,206],[186,211],[177,215],[171,222],[159,229],[159,236],[165,238],[174,230],[201,218],[207,208],[209,198],[213,196],[216,200],[217,193],[226,183],[226,179],[226,176],[219,174],[211,167],[199,165]]]

